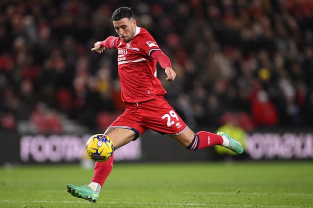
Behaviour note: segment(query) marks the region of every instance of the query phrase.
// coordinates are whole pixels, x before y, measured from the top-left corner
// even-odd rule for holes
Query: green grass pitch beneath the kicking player
[[[0,168],[0,208],[313,207],[313,162],[115,163],[89,203],[70,196],[92,169],[77,165]]]

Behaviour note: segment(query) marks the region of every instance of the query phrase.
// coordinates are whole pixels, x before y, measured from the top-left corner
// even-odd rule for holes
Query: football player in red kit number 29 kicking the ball
[[[118,75],[125,111],[104,133],[111,138],[115,149],[152,129],[172,136],[189,150],[220,145],[238,154],[243,153],[241,144],[222,131],[217,134],[194,133],[164,99],[166,91],[156,78],[156,62],[165,70],[167,81],[174,81],[176,73],[150,33],[136,25],[131,8],[116,9],[112,23],[118,37],[110,36],[94,43],[91,51],[102,53],[106,48],[118,51]],[[91,183],[87,186],[67,185],[67,191],[78,198],[96,202],[112,167],[113,156],[105,162],[96,162]]]

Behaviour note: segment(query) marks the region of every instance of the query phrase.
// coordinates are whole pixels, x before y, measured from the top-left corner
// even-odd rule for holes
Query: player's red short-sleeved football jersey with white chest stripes
[[[165,95],[166,90],[156,78],[156,60],[150,55],[154,50],[161,50],[150,33],[136,27],[131,42],[123,42],[121,38],[113,41],[118,51],[118,75],[122,89],[123,102],[137,103]]]

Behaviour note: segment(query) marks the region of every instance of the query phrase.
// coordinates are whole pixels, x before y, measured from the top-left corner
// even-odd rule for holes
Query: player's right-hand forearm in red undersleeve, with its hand
[[[151,57],[154,58],[163,69],[165,69],[165,74],[167,76],[166,81],[173,81],[176,78],[176,73],[172,69],[172,64],[168,56],[166,56],[161,50],[152,51]]]

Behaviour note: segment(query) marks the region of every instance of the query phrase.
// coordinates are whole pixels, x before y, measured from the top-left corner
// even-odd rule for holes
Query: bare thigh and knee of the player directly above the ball
[[[134,130],[127,128],[108,128],[104,134],[113,141],[115,149],[128,144],[137,137],[137,133]]]

